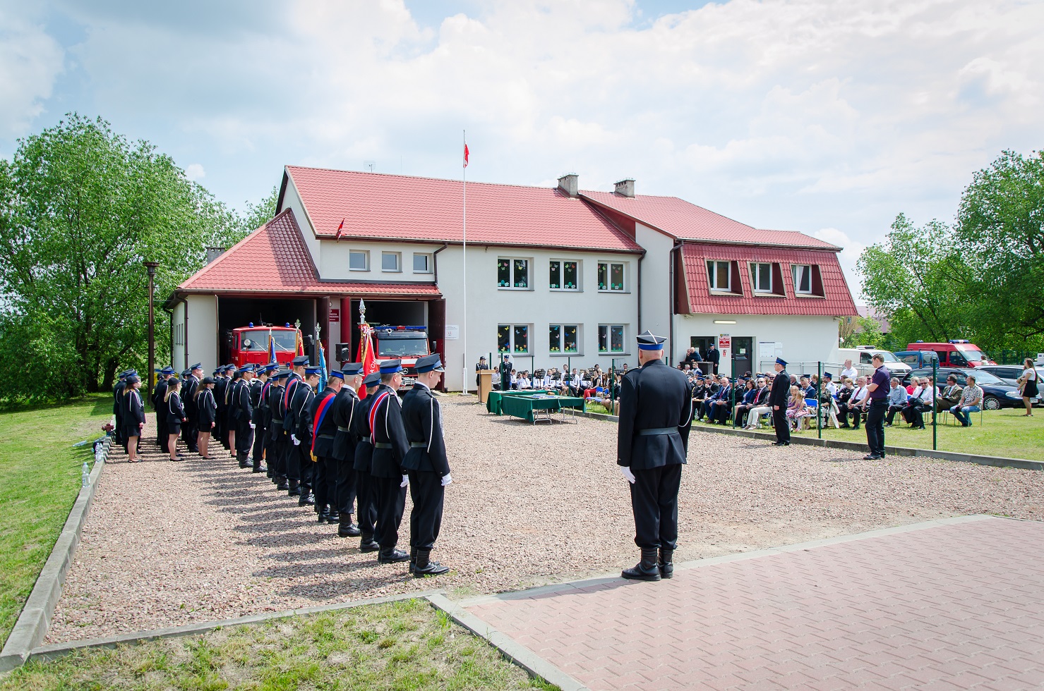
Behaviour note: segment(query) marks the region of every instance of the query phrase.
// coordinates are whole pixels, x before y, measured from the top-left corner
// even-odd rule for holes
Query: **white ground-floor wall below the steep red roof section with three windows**
[[[715,324],[714,320],[735,321],[735,324]],[[692,336],[720,336],[733,339],[752,337],[754,356],[752,371],[765,371],[769,363],[758,361],[758,342],[776,341],[783,344],[783,359],[790,363],[788,371],[800,373],[797,368],[814,372],[816,362],[831,362],[837,350],[837,320],[834,317],[797,317],[764,315],[677,315],[674,317],[674,352],[683,355]],[[718,371],[732,375],[732,350],[721,351]],[[679,361],[675,361],[679,362]],[[808,368],[811,369],[808,369]],[[742,372],[739,372],[742,374]]]

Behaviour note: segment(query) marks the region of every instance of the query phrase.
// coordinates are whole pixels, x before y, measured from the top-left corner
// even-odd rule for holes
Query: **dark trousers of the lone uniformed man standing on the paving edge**
[[[633,470],[631,511],[635,515],[635,544],[642,549],[678,544],[678,490],[682,464]]]

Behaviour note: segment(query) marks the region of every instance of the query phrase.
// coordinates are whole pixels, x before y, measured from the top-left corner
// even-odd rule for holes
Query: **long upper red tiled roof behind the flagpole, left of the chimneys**
[[[287,166],[316,235],[462,240],[460,180]],[[468,242],[640,252],[641,247],[579,199],[552,188],[468,183]]]

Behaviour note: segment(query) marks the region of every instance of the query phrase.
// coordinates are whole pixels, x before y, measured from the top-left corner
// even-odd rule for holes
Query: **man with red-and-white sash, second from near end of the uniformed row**
[[[394,564],[409,561],[409,554],[396,547],[409,483],[402,469],[409,442],[402,427],[402,406],[397,393],[402,386],[402,361],[385,360],[380,367],[381,386],[370,404],[370,439],[374,445],[370,472],[377,486],[376,537],[381,546],[377,563]]]

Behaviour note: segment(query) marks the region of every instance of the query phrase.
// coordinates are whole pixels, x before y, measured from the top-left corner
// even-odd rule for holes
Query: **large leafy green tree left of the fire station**
[[[244,222],[169,156],[100,118],[72,114],[20,140],[13,161],[0,161],[5,396],[75,395],[111,387],[118,370],[143,370],[142,262],[160,262],[162,301],[204,265],[208,245],[239,240]],[[169,328],[159,306],[156,316],[162,357]]]

